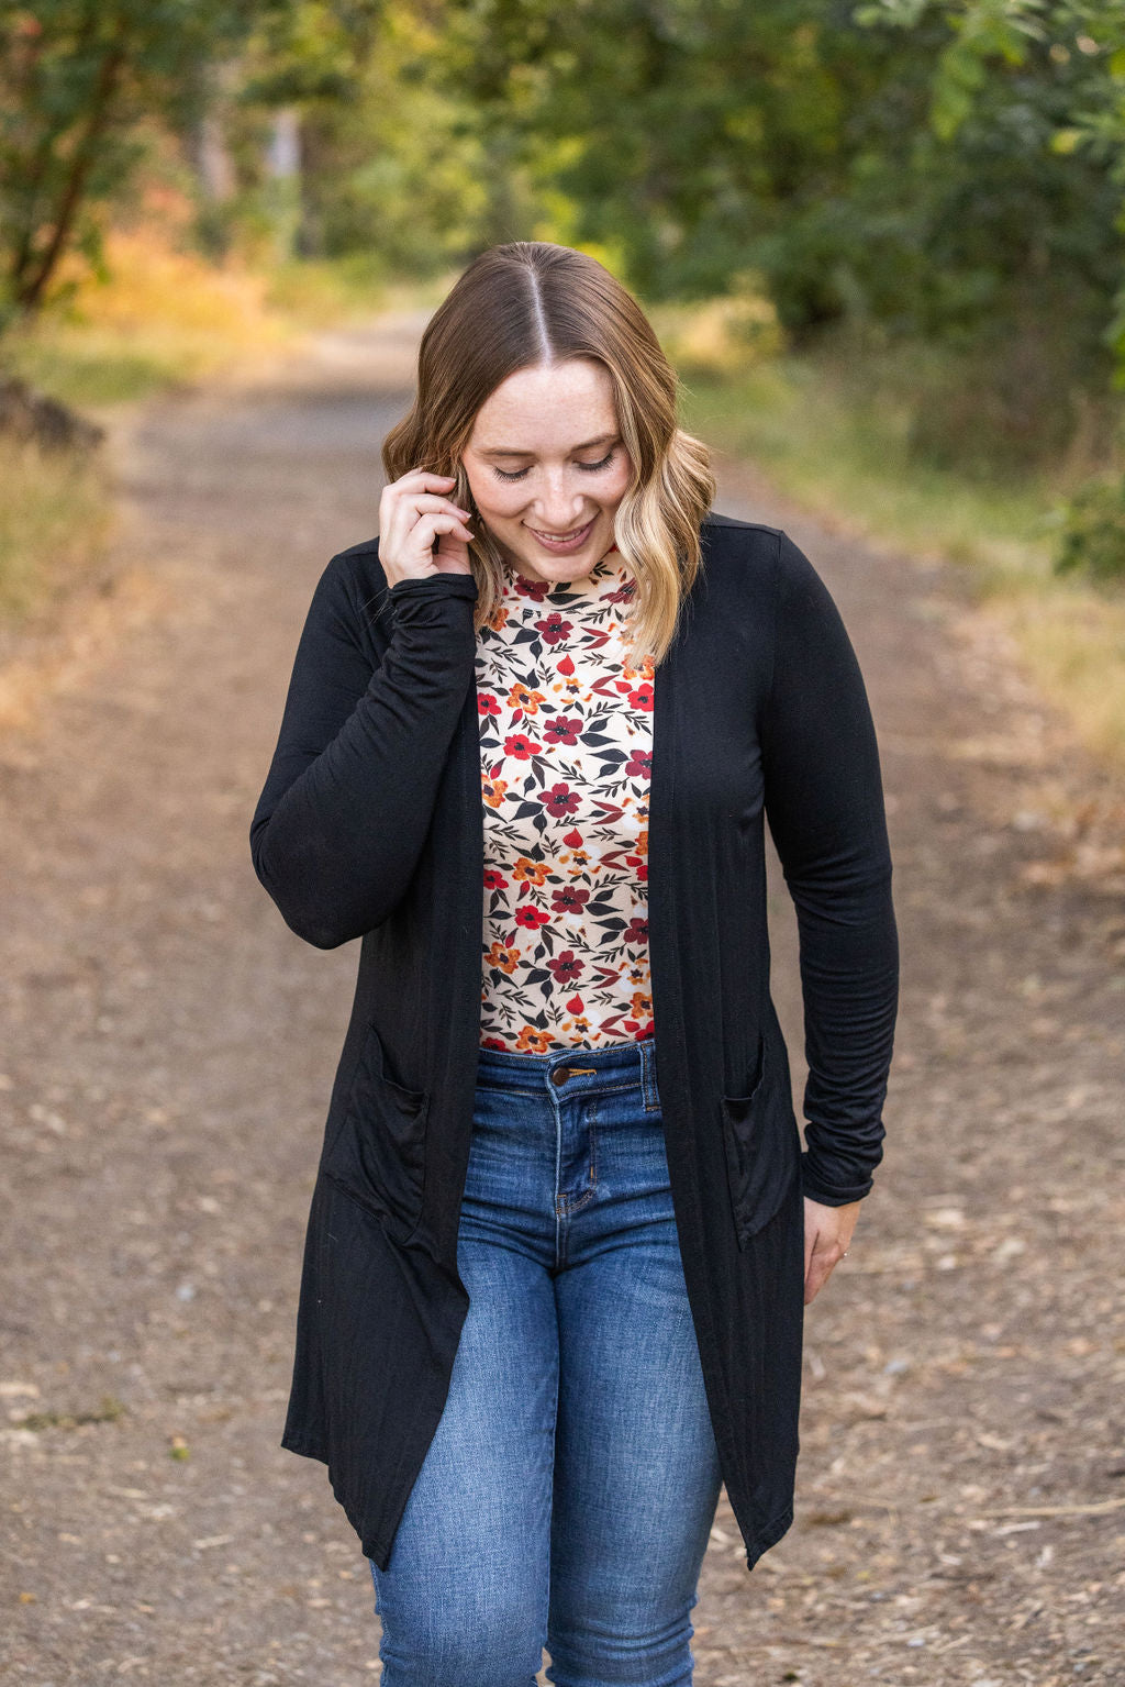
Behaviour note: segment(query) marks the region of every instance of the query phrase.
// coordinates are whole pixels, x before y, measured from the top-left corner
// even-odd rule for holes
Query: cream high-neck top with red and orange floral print
[[[631,666],[617,547],[580,580],[508,569],[477,631],[484,1048],[653,1036],[648,795],[653,663]]]

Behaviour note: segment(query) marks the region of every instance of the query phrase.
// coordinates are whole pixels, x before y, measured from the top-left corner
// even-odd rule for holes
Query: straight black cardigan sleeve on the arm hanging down
[[[766,817],[798,918],[805,1193],[859,1201],[882,1159],[899,995],[875,727],[840,612],[779,535],[772,680],[759,722]]]

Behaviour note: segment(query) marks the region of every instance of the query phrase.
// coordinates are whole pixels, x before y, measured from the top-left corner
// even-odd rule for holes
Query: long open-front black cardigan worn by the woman
[[[788,1528],[801,1191],[864,1198],[897,1009],[875,730],[840,614],[778,528],[708,515],[654,676],[656,1075],[712,1422],[747,1564]],[[363,938],[307,1233],[283,1446],[329,1464],[386,1564],[440,1417],[479,1046],[482,818],[471,575],[391,590],[332,558],[300,638],[251,845],[287,923]],[[762,822],[799,931],[805,1151],[769,995]],[[361,1355],[361,1356],[358,1356]]]

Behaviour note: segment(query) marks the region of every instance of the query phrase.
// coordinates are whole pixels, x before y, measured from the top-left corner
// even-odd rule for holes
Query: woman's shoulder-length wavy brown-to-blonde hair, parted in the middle
[[[702,562],[700,523],[715,496],[710,454],[676,423],[680,381],[636,299],[572,246],[516,240],[482,251],[430,317],[418,349],[415,402],[383,442],[383,469],[452,474],[449,493],[474,515],[469,560],[477,582],[474,626],[499,609],[506,563],[469,489],[462,452],[477,412],[516,369],[595,358],[614,385],[617,427],[632,479],[617,506],[614,540],[636,580],[631,655],[663,661],[680,604]]]

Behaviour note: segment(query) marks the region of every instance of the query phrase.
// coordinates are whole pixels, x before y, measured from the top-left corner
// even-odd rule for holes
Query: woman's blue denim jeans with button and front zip
[[[577,1071],[573,1068],[579,1068]],[[449,1399],[386,1571],[383,1687],[681,1687],[720,1471],[654,1044],[481,1049]]]

